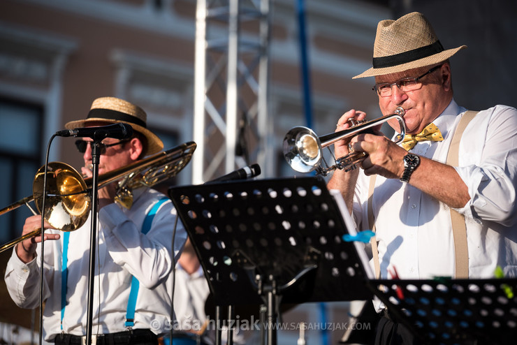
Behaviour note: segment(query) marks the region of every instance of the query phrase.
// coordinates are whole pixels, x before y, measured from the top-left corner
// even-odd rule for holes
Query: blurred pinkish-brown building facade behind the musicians
[[[353,0],[305,5],[312,129],[334,131],[350,108],[380,116],[377,96],[365,96],[372,80],[351,77],[370,67],[377,22],[391,17],[388,8]],[[273,154],[261,178],[295,175],[282,140],[291,127],[307,124],[297,10],[296,1],[271,1],[267,145]],[[52,134],[85,117],[95,98],[140,105],[167,148],[191,141],[195,40],[196,0],[1,1],[0,207],[32,194]],[[56,138],[50,161],[80,169],[82,156],[71,140]],[[190,184],[191,174],[187,166],[175,183]],[[1,216],[0,242],[17,237],[28,215]]]

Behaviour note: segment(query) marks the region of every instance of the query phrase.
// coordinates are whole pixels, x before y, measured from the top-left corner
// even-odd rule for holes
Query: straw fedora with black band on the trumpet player
[[[430,22],[418,12],[398,20],[381,20],[373,46],[373,67],[352,79],[438,64],[466,47],[444,50]]]

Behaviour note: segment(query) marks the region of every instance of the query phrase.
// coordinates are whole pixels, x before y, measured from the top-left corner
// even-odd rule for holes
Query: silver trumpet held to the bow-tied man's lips
[[[354,170],[357,168],[357,165],[366,158],[367,154],[365,152],[351,152],[346,156],[335,159],[333,166],[328,166],[325,159],[323,159],[323,148],[339,140],[354,137],[359,133],[371,133],[372,127],[384,124],[384,122],[388,122],[391,119],[397,119],[400,126],[400,135],[398,135],[395,143],[401,142],[406,133],[406,126],[404,119],[402,119],[404,115],[404,108],[398,107],[393,114],[378,117],[371,121],[353,123],[348,129],[329,133],[321,137],[318,137],[312,129],[308,129],[307,127],[293,127],[286,133],[284,138],[284,158],[291,168],[298,172],[311,172],[316,170],[316,174],[326,176],[328,172],[335,169],[344,171]]]

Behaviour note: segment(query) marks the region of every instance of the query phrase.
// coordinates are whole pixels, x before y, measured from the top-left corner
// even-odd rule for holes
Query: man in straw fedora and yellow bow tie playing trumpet
[[[382,279],[517,276],[517,110],[467,111],[453,99],[449,58],[421,13],[382,20],[373,67],[383,115],[405,110],[400,144],[380,132],[335,145],[335,155],[364,152],[361,169],[336,170],[358,230],[372,229],[372,267]],[[373,84],[373,83],[372,83]],[[365,113],[345,112],[336,131]],[[388,124],[400,133],[396,120]],[[381,311],[383,305],[378,306]],[[414,344],[393,319],[381,318],[378,344]]]

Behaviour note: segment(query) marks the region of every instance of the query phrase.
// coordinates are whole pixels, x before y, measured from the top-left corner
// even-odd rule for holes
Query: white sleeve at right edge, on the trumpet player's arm
[[[458,212],[512,226],[517,221],[517,110],[497,105],[480,112],[460,142],[456,171],[470,200]]]

